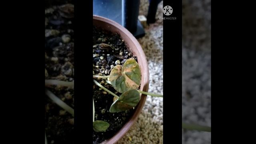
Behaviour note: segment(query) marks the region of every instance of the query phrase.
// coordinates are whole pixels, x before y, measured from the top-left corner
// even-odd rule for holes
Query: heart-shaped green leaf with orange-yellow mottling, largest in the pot
[[[138,89],[140,86],[140,66],[133,58],[129,58],[124,65],[116,65],[110,72],[110,82],[120,93]]]

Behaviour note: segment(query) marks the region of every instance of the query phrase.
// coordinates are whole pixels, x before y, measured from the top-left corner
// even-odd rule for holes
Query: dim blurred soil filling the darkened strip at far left
[[[45,79],[74,80],[72,4],[45,9]],[[74,89],[48,88],[74,108]],[[45,132],[48,144],[74,144],[74,117],[45,96]]]

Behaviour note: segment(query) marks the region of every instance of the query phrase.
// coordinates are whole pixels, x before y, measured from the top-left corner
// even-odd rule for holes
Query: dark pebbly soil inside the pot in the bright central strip
[[[132,53],[128,51],[125,42],[118,34],[112,34],[105,30],[93,27],[93,72],[96,75],[108,76],[112,68],[118,64],[124,64],[126,59],[135,58]],[[118,93],[114,88],[106,83],[106,79],[96,79],[108,90]],[[134,109],[125,112],[110,113],[109,109],[113,103],[111,94],[102,90],[99,86],[94,84],[94,105],[95,105],[95,120],[104,120],[110,124],[106,132],[93,131],[93,144],[107,140],[114,136],[122,126],[131,118]]]

